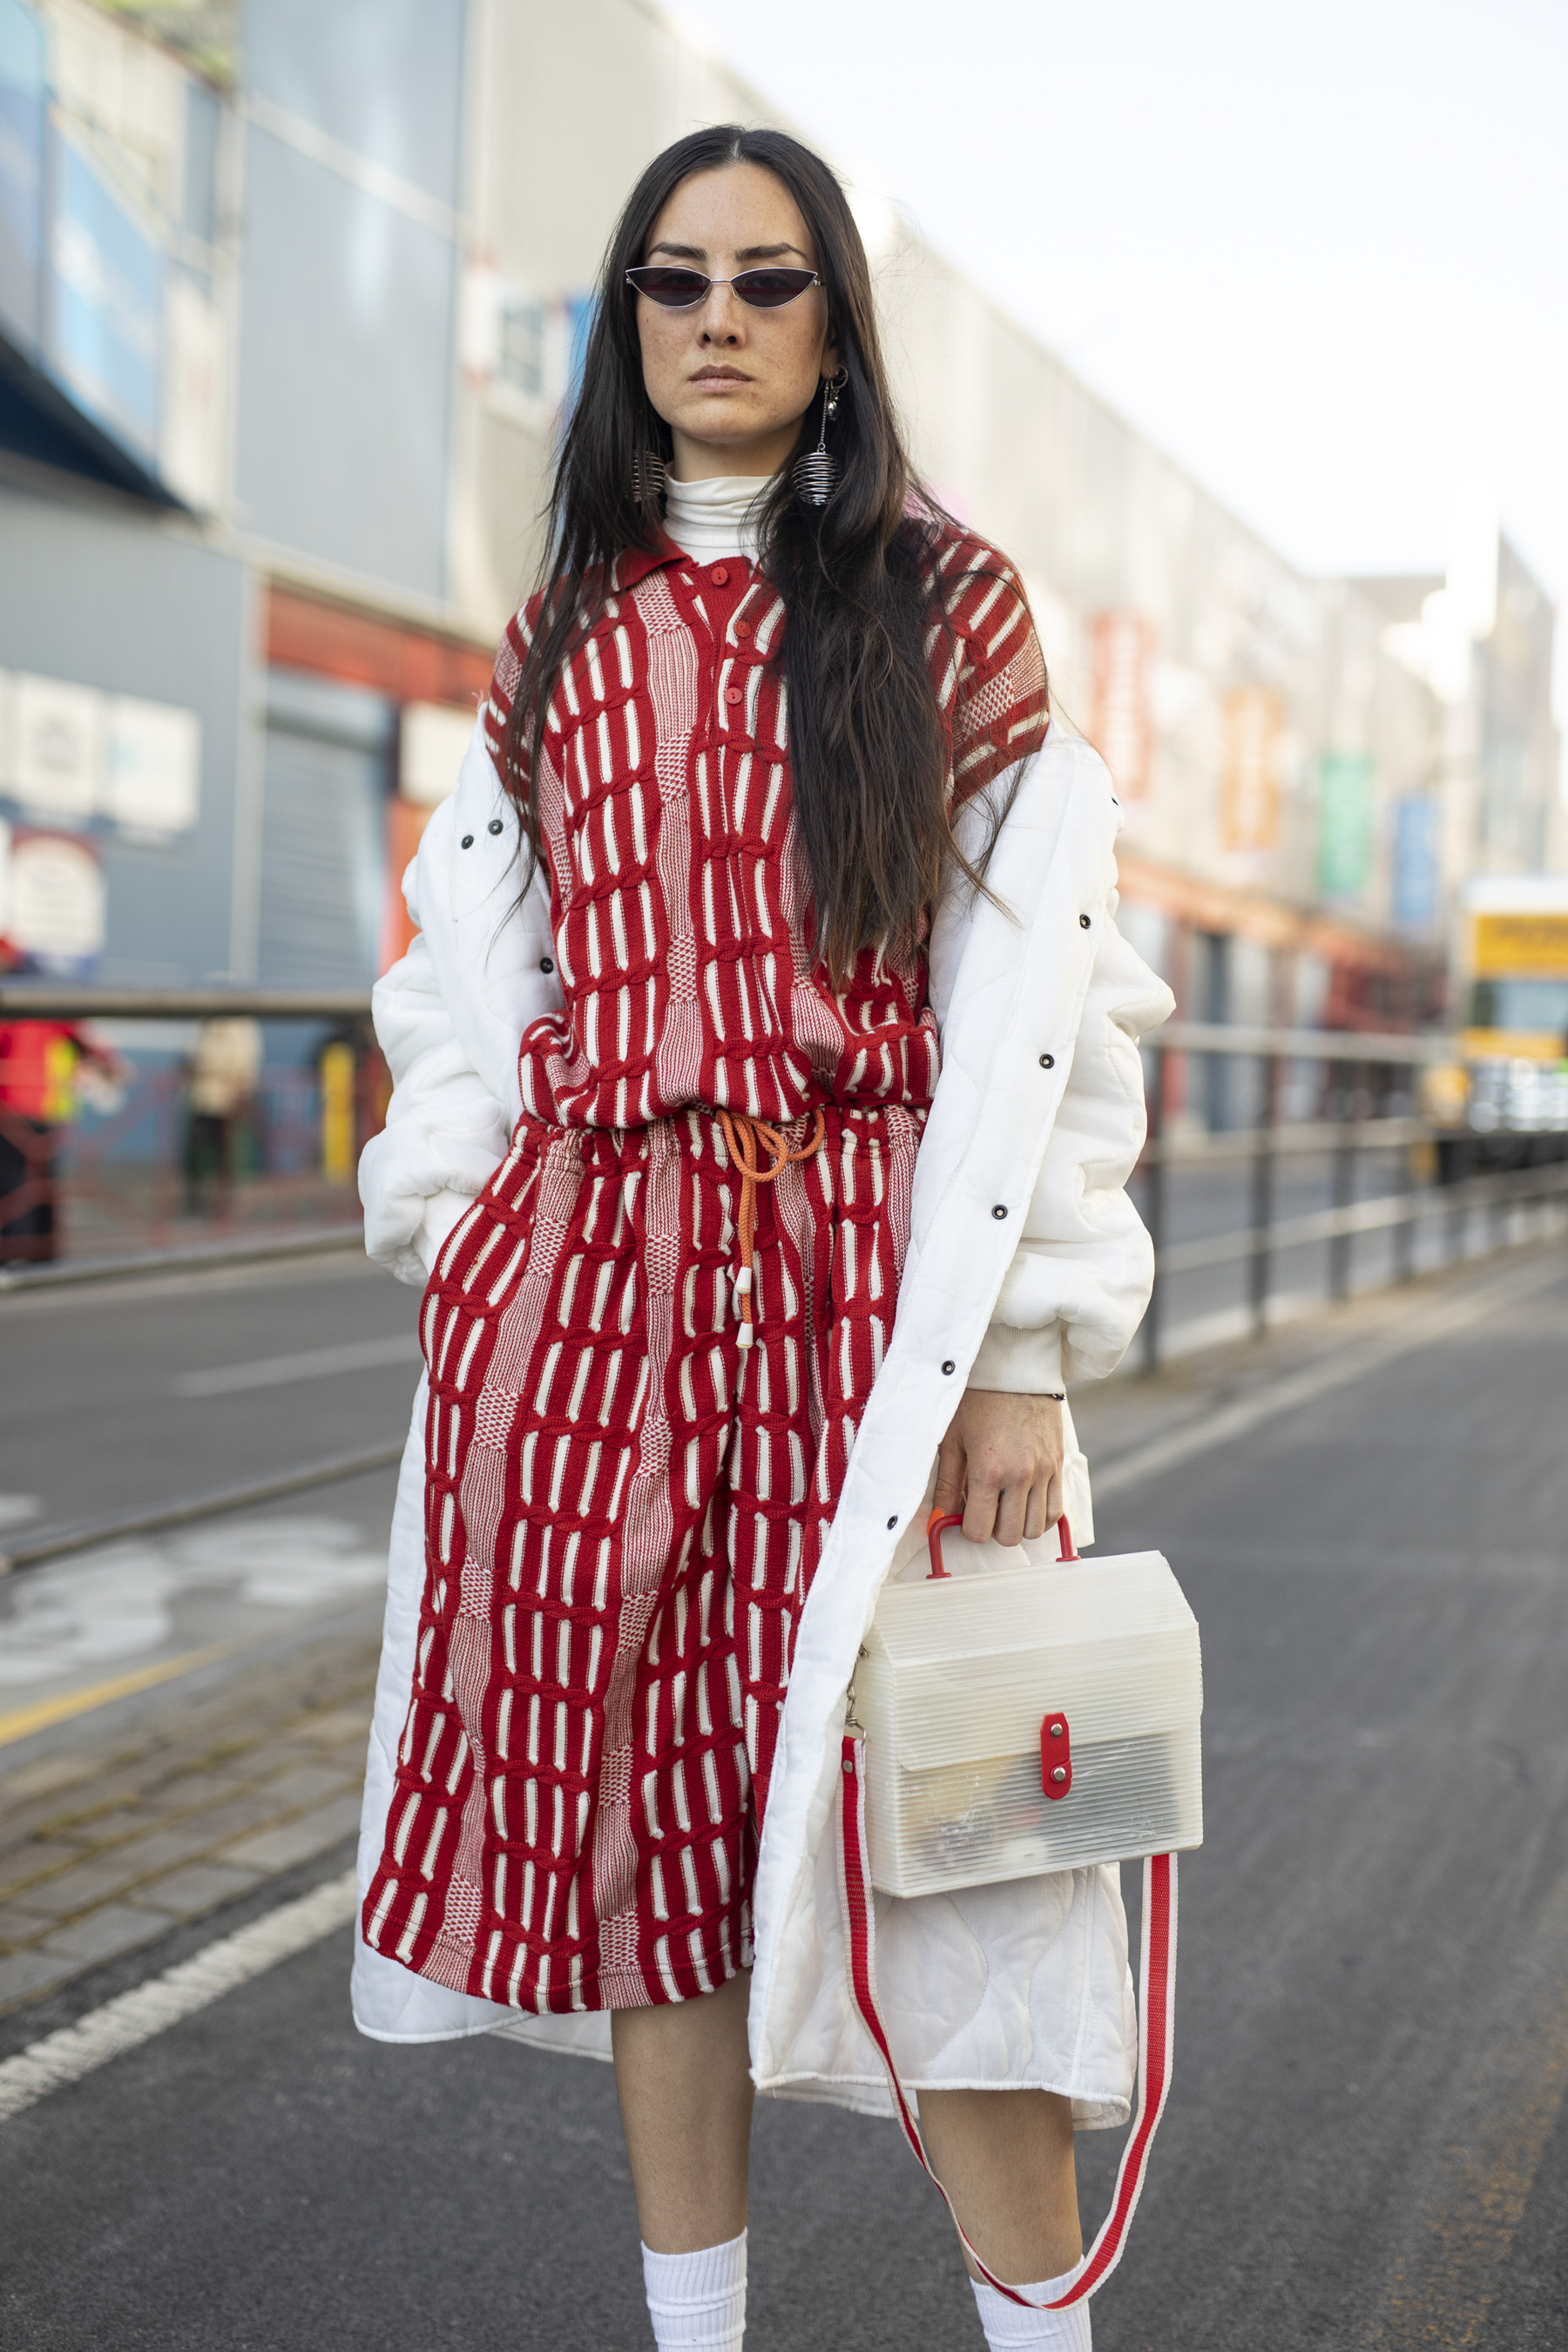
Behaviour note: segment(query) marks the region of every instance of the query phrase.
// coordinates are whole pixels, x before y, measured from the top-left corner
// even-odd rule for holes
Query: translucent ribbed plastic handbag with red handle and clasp
[[[872,1886],[943,1893],[1204,1842],[1199,1628],[1159,1552],[882,1588],[856,1668]]]

